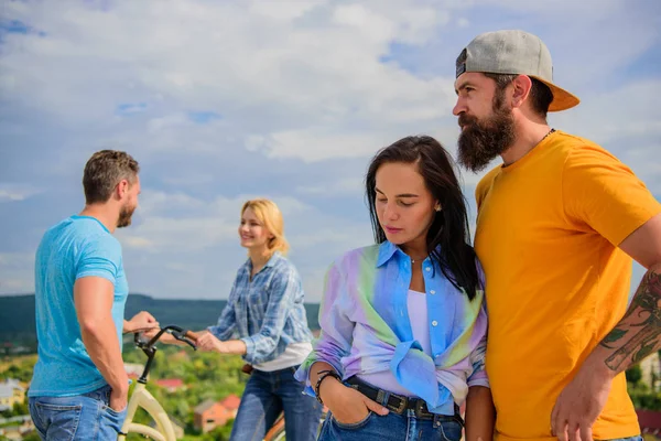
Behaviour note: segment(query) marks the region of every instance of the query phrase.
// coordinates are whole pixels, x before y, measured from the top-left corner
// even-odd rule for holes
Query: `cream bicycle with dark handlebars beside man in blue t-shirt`
[[[144,370],[142,372],[142,375],[140,378],[138,378],[136,387],[133,388],[133,392],[129,398],[129,404],[127,406],[127,419],[121,427],[121,432],[117,437],[118,441],[124,441],[129,433],[142,434],[156,441],[176,441],[174,428],[172,427],[172,422],[170,421],[167,412],[165,412],[161,404],[145,388],[148,381],[147,377],[149,375],[149,370],[151,369],[152,362],[154,361],[154,355],[156,354],[156,347],[154,344],[159,341],[164,332],[172,334],[172,336],[180,342],[184,342],[197,351],[197,346],[193,341],[193,334],[174,325],[161,329],[161,331],[159,331],[159,333],[149,342],[141,341],[139,334],[133,335],[136,345],[147,355],[147,363],[144,364]],[[144,409],[155,421],[155,429],[145,424],[133,422],[133,417],[136,416],[138,408]]]

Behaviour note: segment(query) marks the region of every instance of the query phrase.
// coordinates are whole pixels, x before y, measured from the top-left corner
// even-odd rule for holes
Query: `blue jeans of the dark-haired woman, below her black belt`
[[[386,399],[380,405],[384,406]],[[459,441],[463,429],[458,419],[441,415],[419,419],[414,410],[403,415],[390,411],[383,417],[370,411],[365,419],[350,424],[338,422],[328,412],[318,441]]]

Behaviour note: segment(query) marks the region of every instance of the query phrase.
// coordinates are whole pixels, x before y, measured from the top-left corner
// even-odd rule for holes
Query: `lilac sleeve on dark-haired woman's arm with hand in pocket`
[[[333,265],[324,282],[324,295],[319,308],[319,337],[314,342],[312,353],[295,373],[295,378],[305,384],[307,395],[315,396],[310,383],[310,368],[317,362],[328,363],[344,378],[342,358],[351,349],[355,326],[345,313],[348,300],[345,278],[337,266]]]

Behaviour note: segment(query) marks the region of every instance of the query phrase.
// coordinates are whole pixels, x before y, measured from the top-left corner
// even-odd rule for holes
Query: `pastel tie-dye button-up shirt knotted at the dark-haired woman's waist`
[[[487,314],[484,291],[473,300],[457,290],[429,257],[422,262],[431,356],[413,338],[407,292],[411,258],[395,245],[355,249],[326,276],[319,310],[322,334],[296,372],[314,395],[310,367],[326,362],[343,378],[390,370],[434,413],[454,415],[469,386],[488,387],[484,369]],[[481,269],[480,269],[481,272]]]

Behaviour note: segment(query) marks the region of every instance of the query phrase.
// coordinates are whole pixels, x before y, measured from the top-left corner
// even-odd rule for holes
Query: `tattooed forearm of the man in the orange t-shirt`
[[[661,272],[642,278],[627,313],[600,345],[611,349],[606,366],[621,372],[661,348]]]

